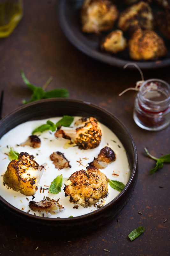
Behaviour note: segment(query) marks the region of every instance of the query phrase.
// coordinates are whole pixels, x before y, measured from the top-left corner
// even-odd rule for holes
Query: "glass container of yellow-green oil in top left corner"
[[[0,37],[8,37],[22,16],[22,0],[0,0]]]

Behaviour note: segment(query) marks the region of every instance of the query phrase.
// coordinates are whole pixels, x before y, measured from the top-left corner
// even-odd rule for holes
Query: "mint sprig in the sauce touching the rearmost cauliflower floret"
[[[32,134],[36,132],[44,132],[46,130],[51,130],[52,132],[54,132],[59,125],[69,127],[73,120],[74,117],[72,116],[63,116],[63,118],[59,120],[56,124],[48,120],[46,124],[42,124],[41,126],[35,128]]]

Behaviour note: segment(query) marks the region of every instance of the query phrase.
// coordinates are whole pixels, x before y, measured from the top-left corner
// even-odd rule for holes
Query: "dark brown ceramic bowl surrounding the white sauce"
[[[36,231],[44,233],[56,233],[57,230],[60,235],[70,234],[74,230],[73,235],[78,235],[82,232],[90,232],[108,223],[129,201],[137,182],[137,151],[129,131],[115,116],[96,105],[70,99],[45,99],[18,108],[0,121],[0,138],[18,124],[28,120],[63,115],[96,117],[99,122],[111,129],[120,139],[127,152],[131,170],[129,181],[122,192],[107,205],[96,211],[64,219],[42,218],[28,214],[15,208],[1,196],[0,204],[2,205],[1,209],[5,211],[5,216],[8,213],[13,222],[24,225],[26,228],[35,230],[36,227]]]

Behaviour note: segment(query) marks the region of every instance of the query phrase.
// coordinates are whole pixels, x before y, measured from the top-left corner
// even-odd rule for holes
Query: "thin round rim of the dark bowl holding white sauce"
[[[94,104],[94,103],[89,103],[89,102],[85,102],[85,101],[80,101],[80,100],[74,100],[74,99],[67,99],[67,98],[49,98],[49,99],[41,99],[41,100],[37,100],[35,102],[31,102],[31,103],[27,103],[25,105],[22,105],[18,108],[16,108],[14,111],[12,111],[11,113],[7,114],[2,120],[0,120],[0,127],[1,124],[6,121],[7,119],[11,118],[11,116],[13,116],[14,114],[16,114],[19,111],[22,111],[28,107],[34,106],[34,105],[39,105],[41,103],[46,103],[46,102],[70,102],[70,103],[79,103],[79,104],[87,104],[92,106],[92,108],[98,109],[99,111],[102,111],[103,113],[109,115],[111,118],[115,119],[116,122],[118,122],[122,128],[125,130],[126,134],[128,135],[128,137],[130,138],[130,141],[132,143],[132,147],[133,147],[133,157],[134,157],[134,162],[133,162],[133,166],[131,169],[131,173],[130,173],[130,177],[129,180],[127,182],[127,184],[125,185],[125,187],[123,188],[123,190],[110,202],[108,202],[106,205],[102,206],[101,208],[97,209],[96,211],[92,211],[90,213],[86,213],[83,215],[79,215],[79,216],[75,216],[72,218],[48,218],[48,217],[41,217],[41,216],[37,216],[37,215],[32,215],[29,214],[27,212],[21,211],[20,209],[16,208],[15,206],[13,206],[12,204],[10,204],[9,202],[7,202],[1,195],[0,195],[0,201],[2,201],[4,203],[5,206],[7,206],[8,208],[10,208],[10,210],[15,211],[16,213],[18,213],[18,215],[22,214],[22,216],[26,217],[26,218],[33,218],[35,220],[43,220],[43,221],[57,221],[57,222],[65,222],[65,221],[75,221],[75,220],[80,220],[80,219],[86,219],[88,216],[94,216],[96,214],[100,214],[100,212],[105,211],[106,208],[108,208],[109,206],[111,206],[112,204],[116,203],[118,200],[120,200],[122,198],[122,196],[124,195],[124,193],[128,190],[130,184],[133,182],[135,175],[137,175],[137,148],[135,145],[135,142],[131,136],[131,134],[129,133],[129,130],[126,128],[126,126],[122,123],[122,121],[120,121],[115,115],[113,115],[110,111],[107,111],[103,108],[101,108],[100,106]],[[36,120],[36,119],[34,119]],[[23,122],[21,122],[23,123]],[[16,127],[16,126],[14,126]],[[12,128],[11,128],[12,129]],[[6,132],[5,132],[6,133]],[[4,134],[5,134],[4,133]]]

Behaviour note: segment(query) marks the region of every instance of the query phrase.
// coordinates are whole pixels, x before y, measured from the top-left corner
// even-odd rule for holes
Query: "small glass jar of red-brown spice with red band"
[[[166,128],[170,124],[170,85],[160,79],[146,80],[137,93],[133,118],[145,130]]]

